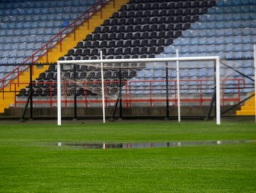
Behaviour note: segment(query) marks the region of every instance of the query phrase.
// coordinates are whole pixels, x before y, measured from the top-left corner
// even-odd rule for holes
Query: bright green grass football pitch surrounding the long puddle
[[[250,141],[85,149],[62,143]],[[256,125],[0,121],[0,192],[256,192]]]

